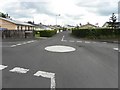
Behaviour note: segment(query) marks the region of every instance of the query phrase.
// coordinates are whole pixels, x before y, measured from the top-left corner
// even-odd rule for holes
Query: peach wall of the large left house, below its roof
[[[7,28],[8,30],[34,30],[33,26],[17,25],[3,19],[0,19],[0,28]]]

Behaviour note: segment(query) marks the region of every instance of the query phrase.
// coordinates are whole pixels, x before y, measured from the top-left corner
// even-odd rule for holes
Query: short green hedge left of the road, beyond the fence
[[[40,37],[52,37],[57,33],[56,30],[41,30],[41,31],[36,31],[36,34],[38,34]]]

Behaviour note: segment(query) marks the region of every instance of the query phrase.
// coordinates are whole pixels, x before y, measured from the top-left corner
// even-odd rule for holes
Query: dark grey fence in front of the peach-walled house
[[[34,31],[24,31],[24,30],[3,30],[0,31],[2,33],[2,38],[33,38]]]

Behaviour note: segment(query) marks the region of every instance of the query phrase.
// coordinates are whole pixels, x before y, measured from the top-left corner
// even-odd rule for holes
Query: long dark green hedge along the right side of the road
[[[72,35],[80,38],[118,38],[120,37],[119,29],[72,29]]]

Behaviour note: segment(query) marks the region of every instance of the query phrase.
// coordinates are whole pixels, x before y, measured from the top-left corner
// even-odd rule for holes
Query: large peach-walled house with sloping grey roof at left
[[[34,25],[12,20],[10,18],[0,17],[0,28],[7,28],[8,30],[34,30]]]

